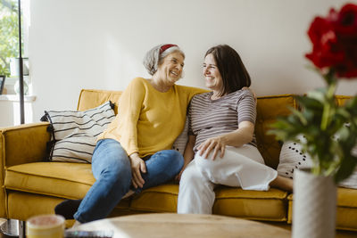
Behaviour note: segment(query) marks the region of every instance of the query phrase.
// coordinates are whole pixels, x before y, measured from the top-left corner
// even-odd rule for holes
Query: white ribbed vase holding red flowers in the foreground
[[[335,238],[336,185],[332,176],[294,173],[293,238]]]

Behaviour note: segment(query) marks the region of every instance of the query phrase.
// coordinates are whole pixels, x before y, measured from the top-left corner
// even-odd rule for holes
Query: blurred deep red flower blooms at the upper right
[[[316,17],[308,30],[312,52],[306,57],[320,70],[333,69],[337,77],[357,77],[357,5],[331,9]]]

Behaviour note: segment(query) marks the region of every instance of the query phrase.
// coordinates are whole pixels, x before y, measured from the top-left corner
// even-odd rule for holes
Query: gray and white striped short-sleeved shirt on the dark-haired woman
[[[211,100],[212,94],[195,95],[190,103],[189,135],[196,135],[194,152],[206,139],[237,130],[242,121],[255,124],[255,101],[250,90],[237,90],[217,100]],[[249,144],[256,146],[255,135]]]

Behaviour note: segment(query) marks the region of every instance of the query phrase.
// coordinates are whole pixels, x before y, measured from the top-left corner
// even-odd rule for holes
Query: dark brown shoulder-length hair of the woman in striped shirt
[[[233,93],[244,86],[251,86],[251,77],[235,49],[229,45],[213,46],[204,57],[210,53],[216,61],[223,80],[223,89],[220,95]]]

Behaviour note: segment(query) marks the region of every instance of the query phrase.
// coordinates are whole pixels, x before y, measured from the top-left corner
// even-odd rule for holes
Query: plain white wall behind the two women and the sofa
[[[350,1],[351,2],[351,1]],[[352,1],[356,2],[356,1]],[[323,81],[306,69],[306,31],[340,0],[30,0],[29,61],[34,121],[44,110],[74,110],[81,88],[123,90],[147,50],[161,43],[186,52],[179,84],[204,86],[205,51],[233,46],[257,95],[303,94]],[[343,82],[338,94],[356,94]]]

